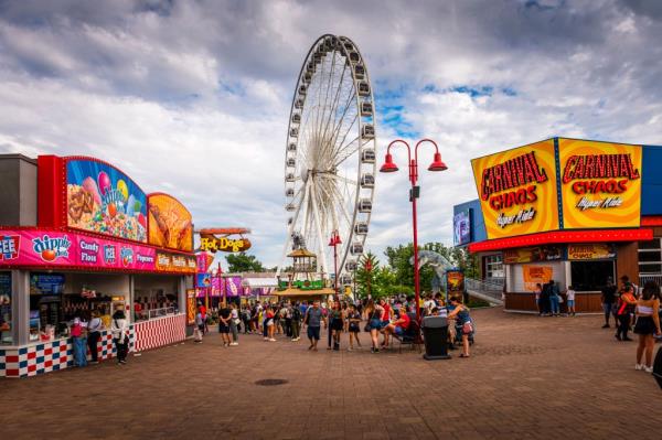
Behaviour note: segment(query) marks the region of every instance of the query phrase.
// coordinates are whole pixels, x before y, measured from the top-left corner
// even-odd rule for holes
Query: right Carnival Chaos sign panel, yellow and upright
[[[639,227],[641,147],[559,139],[563,225]]]

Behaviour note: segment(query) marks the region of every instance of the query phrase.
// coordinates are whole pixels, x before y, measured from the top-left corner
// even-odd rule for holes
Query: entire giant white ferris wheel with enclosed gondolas
[[[363,254],[375,187],[375,106],[365,60],[346,36],[320,36],[303,61],[285,151],[287,239],[317,255],[318,271],[350,283]]]

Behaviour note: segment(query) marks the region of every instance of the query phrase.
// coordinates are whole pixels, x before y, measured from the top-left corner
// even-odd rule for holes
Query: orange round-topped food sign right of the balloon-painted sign
[[[171,249],[193,250],[193,217],[168,194],[148,196],[149,243]]]

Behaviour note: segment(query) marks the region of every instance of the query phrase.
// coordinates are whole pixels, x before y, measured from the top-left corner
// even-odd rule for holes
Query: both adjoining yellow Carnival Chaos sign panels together
[[[638,146],[548,139],[472,160],[488,238],[639,226],[641,157]]]

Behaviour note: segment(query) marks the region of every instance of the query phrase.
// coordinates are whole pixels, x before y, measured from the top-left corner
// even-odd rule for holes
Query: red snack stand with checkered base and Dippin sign
[[[0,155],[0,376],[73,365],[71,322],[93,310],[106,329],[125,310],[134,352],[185,337],[196,262],[177,200],[93,158]],[[115,356],[109,331],[97,351]]]

